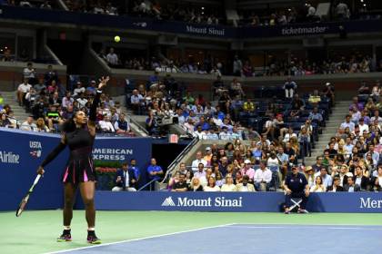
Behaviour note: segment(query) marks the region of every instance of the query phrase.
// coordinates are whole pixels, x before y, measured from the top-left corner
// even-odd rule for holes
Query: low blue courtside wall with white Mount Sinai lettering
[[[279,212],[282,192],[96,191],[99,210],[195,210]],[[307,210],[314,212],[382,212],[376,192],[311,193]]]

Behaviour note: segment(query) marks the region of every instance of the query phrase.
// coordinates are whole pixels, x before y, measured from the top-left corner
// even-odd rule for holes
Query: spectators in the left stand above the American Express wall
[[[18,85],[17,102],[30,113],[25,122],[15,122],[12,109],[5,105],[2,114],[2,127],[20,128],[24,131],[58,132],[59,124],[70,119],[76,111],[88,112],[95,95],[95,81],[84,85],[76,82],[73,91],[66,91],[58,79],[52,65],[45,74],[35,72],[32,63],[24,69],[24,82]],[[121,112],[121,104],[103,93],[97,108],[98,132],[134,135],[127,122],[126,114]]]

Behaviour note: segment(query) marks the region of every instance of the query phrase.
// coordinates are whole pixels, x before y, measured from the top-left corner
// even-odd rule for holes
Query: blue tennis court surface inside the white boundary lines
[[[55,253],[380,253],[381,226],[227,224]]]

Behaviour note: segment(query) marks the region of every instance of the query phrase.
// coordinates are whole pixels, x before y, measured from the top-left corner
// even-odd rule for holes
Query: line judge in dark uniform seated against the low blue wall
[[[297,167],[292,167],[292,173],[286,176],[284,184],[284,190],[286,191],[286,207],[285,213],[289,214],[289,208],[292,206],[292,198],[300,198],[299,213],[307,213],[307,198],[309,196],[309,185],[307,185],[307,179],[305,176],[298,172]]]

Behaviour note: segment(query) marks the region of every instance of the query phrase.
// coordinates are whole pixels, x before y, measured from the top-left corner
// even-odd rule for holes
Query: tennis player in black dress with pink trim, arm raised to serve
[[[75,192],[79,188],[85,204],[87,221],[87,242],[99,244],[101,240],[95,236],[95,167],[92,160],[92,148],[95,142],[95,115],[102,89],[105,88],[109,77],[102,77],[98,84],[95,98],[90,107],[89,119],[83,111],[75,112],[73,118],[62,126],[61,142],[51,151],[38,168],[38,174],[44,174],[44,167],[55,159],[65,149],[70,150],[70,157],[65,166],[64,182],[64,231],[57,241],[72,240],[70,223],[73,217]]]

